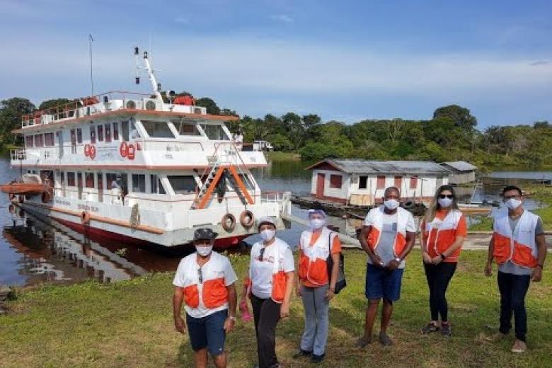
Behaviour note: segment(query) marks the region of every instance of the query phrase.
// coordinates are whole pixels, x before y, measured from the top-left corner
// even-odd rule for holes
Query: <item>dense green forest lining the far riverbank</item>
[[[185,92],[179,95],[187,94]],[[20,127],[21,115],[70,100],[47,100],[38,108],[25,98],[0,102],[0,145],[20,144],[11,130]],[[208,113],[234,115],[220,109],[211,98],[197,105]],[[297,152],[306,160],[332,158],[466,160],[480,166],[540,168],[552,164],[552,125],[493,125],[481,131],[470,110],[459,105],[437,108],[431,120],[362,120],[354,124],[322,122],[318,115],[287,113],[280,117],[243,116],[229,123],[232,132],[241,130],[244,142],[266,140],[276,151]]]

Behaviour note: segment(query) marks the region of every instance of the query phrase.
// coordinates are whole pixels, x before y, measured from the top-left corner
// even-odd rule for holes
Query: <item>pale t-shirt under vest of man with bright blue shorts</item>
[[[379,244],[376,247],[376,255],[379,255],[379,258],[381,258],[381,262],[384,263],[384,266],[388,265],[391,260],[395,259],[395,238],[397,235],[397,218],[398,218],[398,211],[400,209],[397,209],[397,212],[394,214],[386,214],[385,212],[382,214],[381,219],[381,234],[379,236]],[[374,226],[372,223],[372,217],[368,213],[366,215],[366,219],[364,219],[364,226]],[[408,220],[406,222],[406,231],[408,232],[416,232],[416,224],[414,222],[414,217],[410,212],[408,212]],[[372,258],[368,257],[367,262],[372,265]],[[398,268],[404,268],[406,265],[405,260],[402,260],[401,263],[398,265]]]

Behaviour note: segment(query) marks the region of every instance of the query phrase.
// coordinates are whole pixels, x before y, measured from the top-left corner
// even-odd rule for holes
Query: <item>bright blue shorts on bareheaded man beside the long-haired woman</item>
[[[384,298],[389,301],[400,299],[403,271],[403,268],[389,271],[368,263],[366,268],[366,289],[364,292],[367,299]]]

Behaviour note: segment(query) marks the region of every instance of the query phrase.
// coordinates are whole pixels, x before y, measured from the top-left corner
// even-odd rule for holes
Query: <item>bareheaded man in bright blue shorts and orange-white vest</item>
[[[369,256],[365,291],[368,308],[364,336],[358,340],[360,347],[372,343],[372,327],[380,299],[384,299],[384,306],[379,342],[384,346],[393,344],[387,335],[387,326],[393,314],[393,301],[401,297],[404,259],[412,250],[416,236],[412,214],[399,207],[401,195],[398,188],[387,188],[383,200],[383,205],[368,212],[359,236],[360,245]]]

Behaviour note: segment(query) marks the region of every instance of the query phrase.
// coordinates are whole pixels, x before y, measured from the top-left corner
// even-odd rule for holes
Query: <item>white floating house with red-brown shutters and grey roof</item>
[[[403,201],[428,204],[449,183],[449,170],[432,161],[325,159],[306,169],[312,171],[311,195],[348,205],[379,204],[391,186],[401,190]]]

